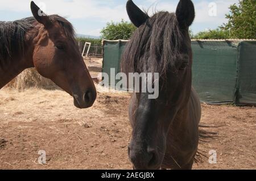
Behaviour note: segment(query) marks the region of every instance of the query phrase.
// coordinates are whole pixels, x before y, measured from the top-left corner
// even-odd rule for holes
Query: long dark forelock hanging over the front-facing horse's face
[[[156,13],[134,32],[126,44],[122,71],[166,75],[168,68],[174,67],[180,56],[183,39],[174,13]]]

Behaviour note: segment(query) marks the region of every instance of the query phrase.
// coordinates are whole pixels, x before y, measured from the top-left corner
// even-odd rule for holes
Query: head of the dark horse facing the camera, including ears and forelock
[[[131,22],[138,27],[126,45],[122,70],[159,73],[159,97],[137,93],[130,105],[133,134],[129,157],[135,169],[159,169],[166,151],[167,133],[191,92],[192,50],[188,28],[195,18],[190,0],[180,0],[176,13],[149,17],[127,2]]]

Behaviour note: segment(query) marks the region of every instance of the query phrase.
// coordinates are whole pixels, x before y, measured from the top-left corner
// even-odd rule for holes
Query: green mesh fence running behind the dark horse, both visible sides
[[[120,70],[126,42],[104,41],[102,71],[109,77]],[[192,41],[192,50],[193,87],[202,102],[256,104],[256,41]]]

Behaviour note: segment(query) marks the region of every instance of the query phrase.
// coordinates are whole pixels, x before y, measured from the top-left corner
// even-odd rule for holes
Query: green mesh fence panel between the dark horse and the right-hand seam
[[[201,101],[234,102],[237,81],[237,46],[226,42],[192,41],[193,87]]]

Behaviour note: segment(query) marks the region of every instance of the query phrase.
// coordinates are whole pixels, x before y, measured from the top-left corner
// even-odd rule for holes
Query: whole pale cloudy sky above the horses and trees
[[[117,5],[114,0],[35,0],[35,3],[40,5],[40,2],[46,4],[47,14],[59,14],[69,19],[85,19],[95,20],[94,28],[86,29],[87,33],[99,35],[100,29],[103,27],[97,26],[97,23],[105,24],[113,20],[118,22],[121,19],[129,20],[126,13],[126,0],[122,0],[121,5]],[[138,1],[134,1],[135,3]],[[150,15],[154,14],[155,10],[166,10],[175,12],[179,0],[144,0],[138,3],[141,9],[148,10]],[[196,24],[201,24],[200,27],[205,28],[205,24],[212,23],[214,26],[220,26],[225,23],[225,14],[229,12],[228,7],[233,3],[238,3],[238,0],[212,0],[217,5],[217,16],[209,16],[208,0],[194,0],[196,10]],[[11,12],[30,12],[30,1],[27,0],[0,0],[0,11]],[[32,15],[32,14],[31,14]],[[20,17],[24,18],[24,17]],[[83,21],[84,22],[84,21]],[[84,22],[86,23],[86,22]],[[198,26],[198,25],[197,25]],[[82,26],[80,26],[82,29]],[[80,30],[79,32],[84,32]]]

